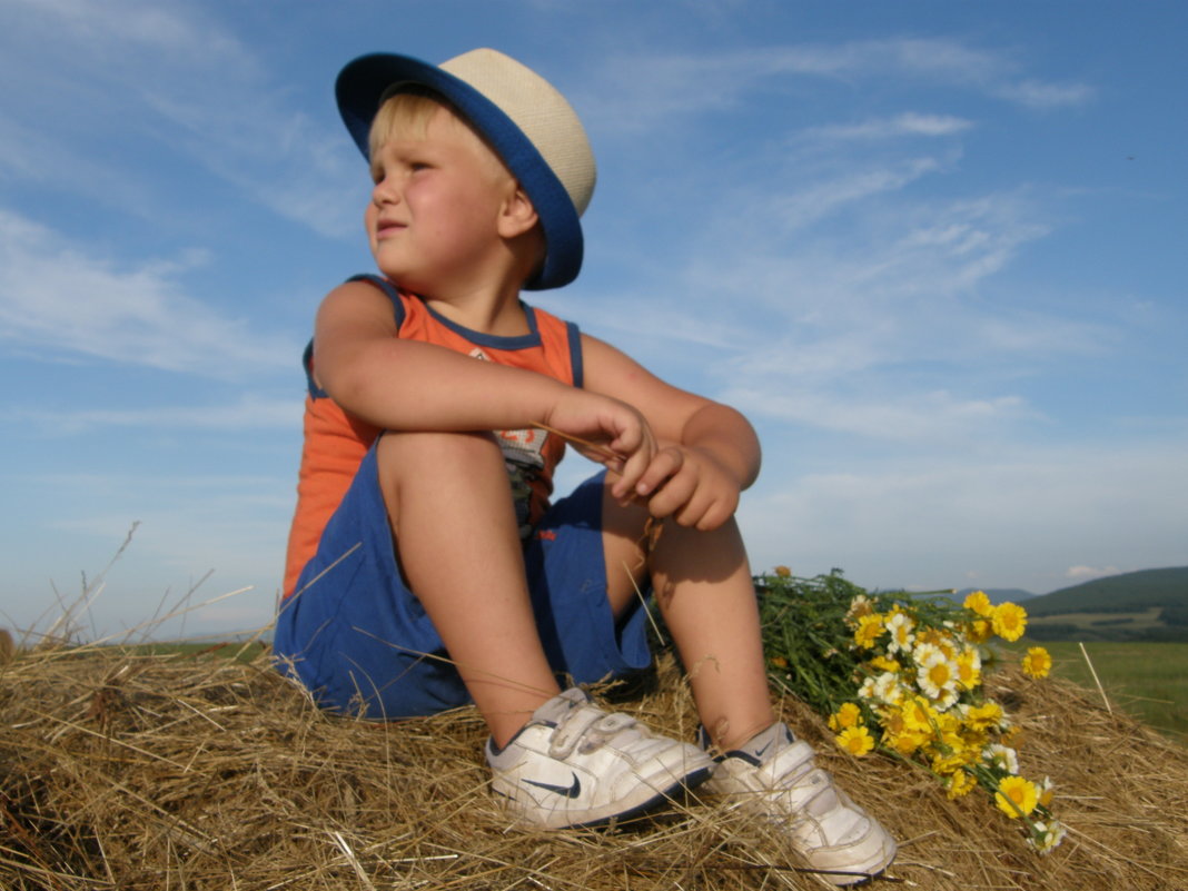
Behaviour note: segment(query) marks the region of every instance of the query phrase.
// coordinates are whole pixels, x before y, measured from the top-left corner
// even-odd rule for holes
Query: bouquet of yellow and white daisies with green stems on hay
[[[994,606],[980,590],[961,606],[935,596],[952,592],[872,594],[838,570],[795,579],[785,567],[756,588],[772,681],[828,715],[839,746],[922,765],[949,798],[980,786],[1041,853],[1063,840],[1050,781],[1022,776],[1019,729],[981,684],[991,639],[1022,637],[1020,606]],[[1051,657],[1032,646],[1022,668],[1045,677]]]

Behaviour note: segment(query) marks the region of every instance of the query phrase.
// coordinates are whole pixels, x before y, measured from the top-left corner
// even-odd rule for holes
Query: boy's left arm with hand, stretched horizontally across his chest
[[[514,430],[544,423],[611,449],[638,476],[655,453],[639,412],[535,372],[400,340],[391,301],[348,282],[322,302],[314,329],[317,384],[384,430]],[[599,456],[594,456],[600,460]]]

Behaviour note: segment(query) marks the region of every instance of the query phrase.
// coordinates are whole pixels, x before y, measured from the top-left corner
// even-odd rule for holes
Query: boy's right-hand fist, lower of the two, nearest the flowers
[[[634,484],[653,517],[672,517],[703,532],[734,516],[741,486],[709,449],[670,444],[656,453]]]

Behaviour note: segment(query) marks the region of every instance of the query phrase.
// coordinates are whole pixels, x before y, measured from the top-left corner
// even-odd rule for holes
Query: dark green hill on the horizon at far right
[[[1188,640],[1188,567],[1094,579],[1026,609],[1036,640]]]

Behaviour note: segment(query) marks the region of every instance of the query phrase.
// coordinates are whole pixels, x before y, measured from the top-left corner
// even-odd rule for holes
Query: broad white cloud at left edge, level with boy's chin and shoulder
[[[43,356],[91,356],[210,377],[282,368],[299,347],[188,296],[197,258],[128,268],[0,208],[0,341]]]

